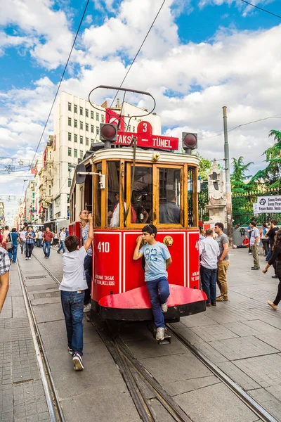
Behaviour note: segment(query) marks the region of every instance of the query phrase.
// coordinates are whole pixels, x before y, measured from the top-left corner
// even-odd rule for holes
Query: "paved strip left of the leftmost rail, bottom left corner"
[[[0,314],[0,421],[50,421],[16,264]]]

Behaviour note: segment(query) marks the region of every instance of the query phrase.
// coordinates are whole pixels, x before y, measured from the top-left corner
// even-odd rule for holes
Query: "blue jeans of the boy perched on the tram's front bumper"
[[[150,295],[150,302],[155,325],[157,328],[164,328],[165,323],[161,304],[166,303],[170,295],[168,280],[166,277],[160,277],[156,280],[146,281],[145,284],[148,287],[148,293]]]

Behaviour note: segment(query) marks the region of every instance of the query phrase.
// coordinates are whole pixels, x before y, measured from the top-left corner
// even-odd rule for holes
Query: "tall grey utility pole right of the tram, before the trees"
[[[230,162],[228,148],[228,116],[226,115],[226,106],[223,107],[223,130],[224,130],[224,162],[226,168],[226,221],[228,226],[229,244],[233,245],[233,205],[231,198],[230,184]]]

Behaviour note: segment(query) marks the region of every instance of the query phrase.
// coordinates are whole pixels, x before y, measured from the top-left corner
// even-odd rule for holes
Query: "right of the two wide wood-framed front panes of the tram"
[[[159,168],[159,223],[181,224],[181,170]]]

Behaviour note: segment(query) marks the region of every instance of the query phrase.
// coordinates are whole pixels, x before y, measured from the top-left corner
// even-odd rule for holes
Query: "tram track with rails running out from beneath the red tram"
[[[33,255],[35,256],[35,255]],[[60,284],[58,279],[51,273],[51,271],[36,257],[41,266],[46,269],[51,278]],[[166,410],[166,412],[176,422],[192,422],[190,417],[185,414],[183,409],[178,406],[174,398],[169,395],[152,374],[145,369],[138,359],[133,355],[128,345],[120,338],[116,326],[112,324],[103,324],[100,321],[91,321],[95,326],[100,338],[105,343],[107,350],[109,350],[112,358],[121,371],[124,381],[129,389],[133,402],[138,410],[141,419],[144,422],[157,422],[157,415],[151,406],[151,397],[157,399],[159,404]],[[256,402],[250,395],[245,392],[240,385],[235,383],[226,373],[210,361],[197,347],[192,345],[187,338],[182,335],[177,328],[172,324],[166,324],[168,331],[174,335],[197,359],[202,362],[207,368],[214,373],[223,384],[225,384],[251,411],[259,417],[263,422],[277,422],[271,414],[266,411],[261,405]],[[148,394],[150,392],[150,394]]]

